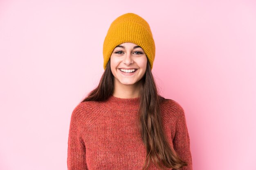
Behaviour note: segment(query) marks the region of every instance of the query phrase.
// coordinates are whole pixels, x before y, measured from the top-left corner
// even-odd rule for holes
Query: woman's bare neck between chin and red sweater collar
[[[113,96],[117,98],[138,98],[141,90],[142,82],[138,81],[132,85],[124,85],[114,81]]]

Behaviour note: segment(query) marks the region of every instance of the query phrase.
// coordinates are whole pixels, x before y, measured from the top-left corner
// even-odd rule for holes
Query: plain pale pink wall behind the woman
[[[67,169],[74,107],[103,40],[132,12],[151,27],[159,92],[186,114],[195,170],[256,169],[256,3],[1,0],[0,169]]]

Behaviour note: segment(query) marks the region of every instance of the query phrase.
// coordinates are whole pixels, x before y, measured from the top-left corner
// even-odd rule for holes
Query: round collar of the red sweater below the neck
[[[118,98],[111,95],[106,100],[106,105],[115,110],[137,110],[139,109],[140,98]]]

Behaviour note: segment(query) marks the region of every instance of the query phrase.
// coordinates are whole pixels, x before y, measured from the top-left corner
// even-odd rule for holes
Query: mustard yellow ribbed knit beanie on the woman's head
[[[135,13],[125,13],[111,23],[103,43],[104,70],[115,47],[124,42],[140,46],[146,53],[152,70],[155,59],[153,35],[148,22]]]

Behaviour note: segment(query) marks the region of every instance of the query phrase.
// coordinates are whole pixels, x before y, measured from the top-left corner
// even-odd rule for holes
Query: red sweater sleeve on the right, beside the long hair
[[[192,170],[192,157],[190,151],[189,132],[186,125],[184,110],[181,109],[177,118],[175,136],[173,138],[173,147],[181,159],[188,163],[181,170]]]

